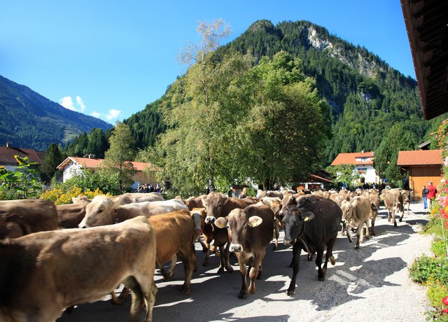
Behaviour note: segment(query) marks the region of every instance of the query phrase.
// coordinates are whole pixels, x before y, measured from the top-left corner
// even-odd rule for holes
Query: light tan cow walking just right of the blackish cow
[[[357,228],[356,230],[356,246],[359,248],[359,244],[364,241],[364,227],[365,224],[365,238],[370,237],[369,232],[369,220],[370,220],[370,200],[364,196],[353,197],[349,202],[342,203],[342,221],[346,223],[346,234],[351,242],[350,230],[351,227]]]

